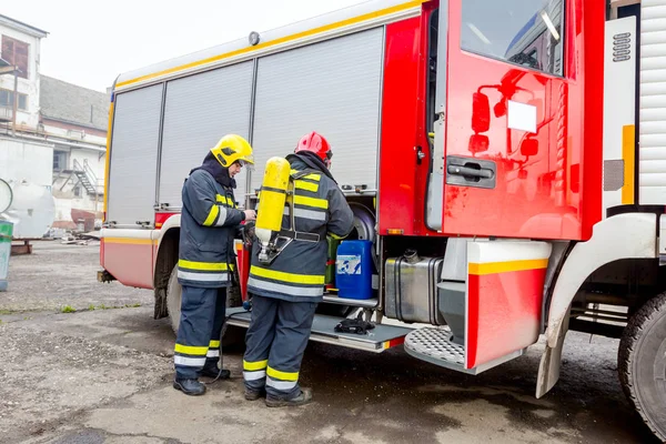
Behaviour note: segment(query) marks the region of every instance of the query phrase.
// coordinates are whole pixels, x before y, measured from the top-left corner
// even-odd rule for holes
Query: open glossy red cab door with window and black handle
[[[448,1],[445,233],[565,235],[564,3]]]

